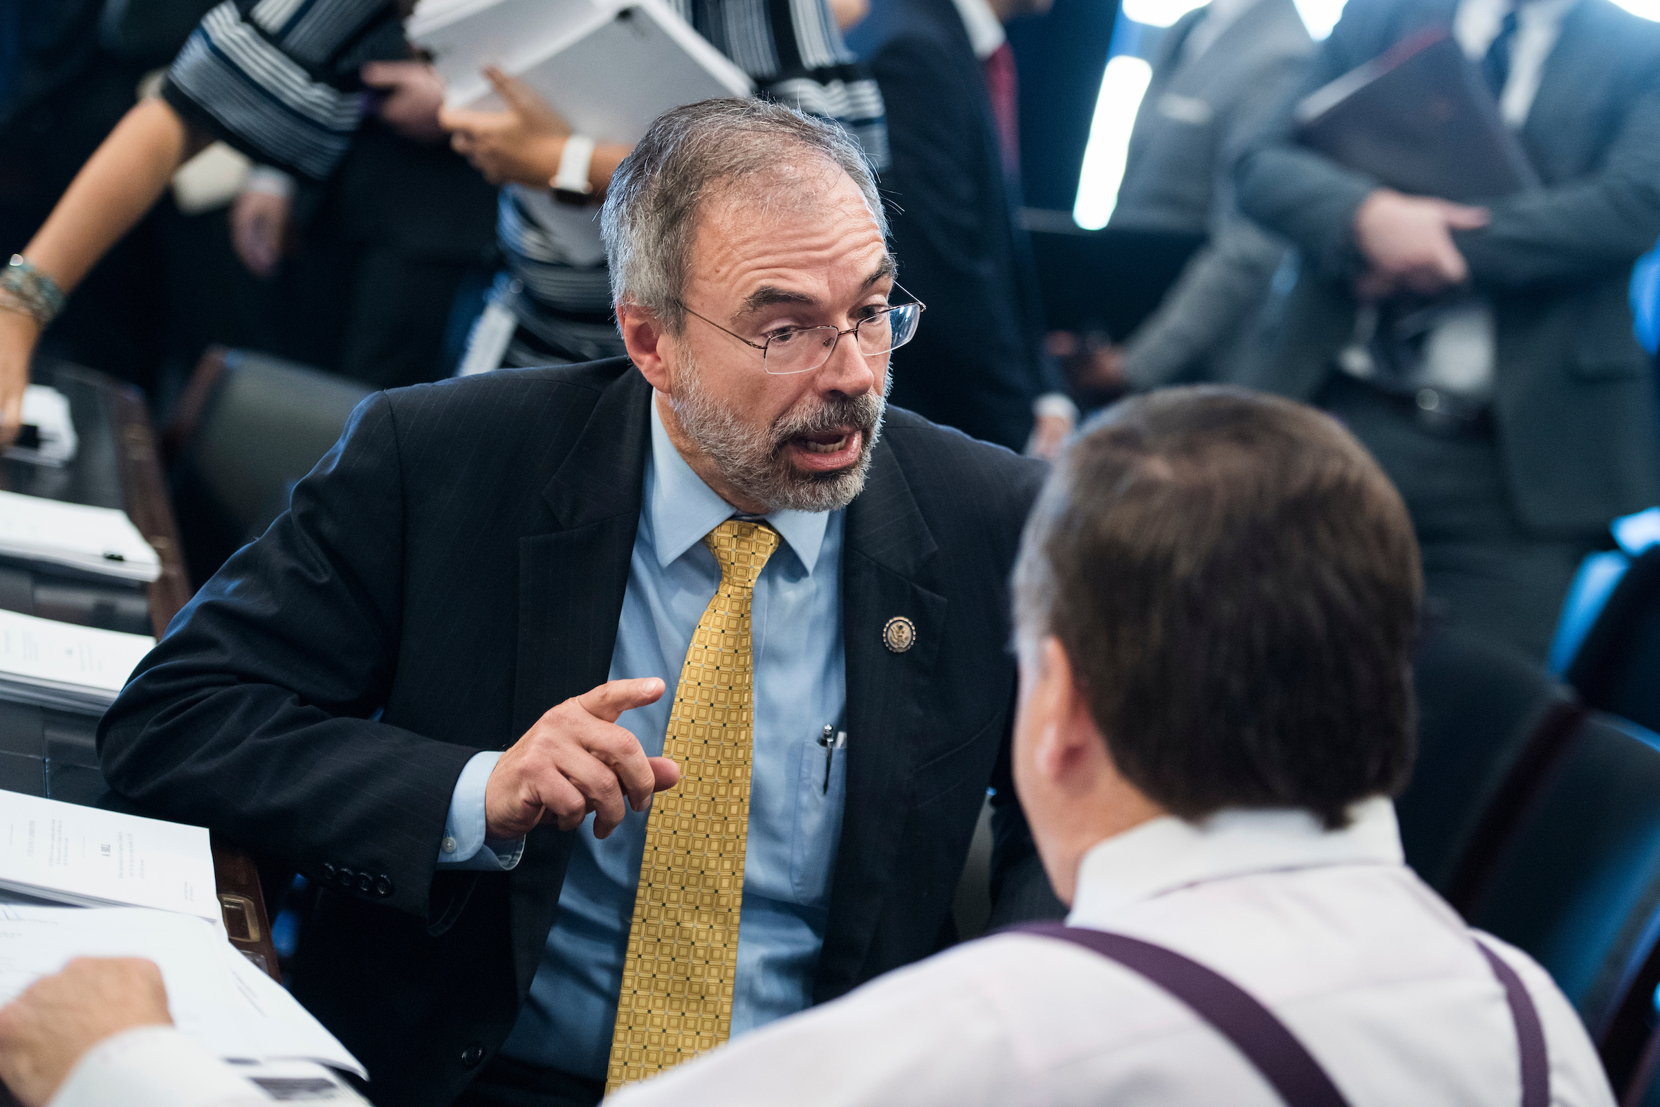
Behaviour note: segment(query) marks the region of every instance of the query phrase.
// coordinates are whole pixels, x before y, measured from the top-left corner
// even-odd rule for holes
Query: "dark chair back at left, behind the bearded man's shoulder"
[[[211,347],[163,433],[186,563],[201,586],[259,538],[374,388],[266,354]]]

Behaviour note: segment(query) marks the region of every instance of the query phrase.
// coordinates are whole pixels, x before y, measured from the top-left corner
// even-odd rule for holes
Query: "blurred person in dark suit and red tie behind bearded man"
[[[1014,50],[1003,23],[1049,0],[883,0],[850,35],[888,110],[905,287],[935,305],[893,363],[893,402],[1011,450],[1052,455],[1077,412],[1042,350],[1019,209]]]

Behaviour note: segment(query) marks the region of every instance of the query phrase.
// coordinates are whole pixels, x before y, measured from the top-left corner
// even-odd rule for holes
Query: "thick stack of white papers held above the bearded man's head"
[[[669,108],[747,96],[754,83],[662,0],[448,0],[408,25],[452,108],[500,110],[496,65],[579,133],[632,146]]]

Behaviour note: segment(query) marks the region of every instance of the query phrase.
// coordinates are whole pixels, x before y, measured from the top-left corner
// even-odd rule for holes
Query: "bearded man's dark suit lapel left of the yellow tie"
[[[611,672],[649,448],[651,387],[629,368],[594,405],[543,490],[559,529],[520,538],[513,734]],[[511,876],[520,994],[530,988],[558,911],[571,835],[538,827]]]

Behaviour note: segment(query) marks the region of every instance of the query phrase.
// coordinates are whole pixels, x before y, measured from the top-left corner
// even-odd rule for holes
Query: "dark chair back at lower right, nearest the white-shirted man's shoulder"
[[[1457,906],[1550,973],[1635,1102],[1660,984],[1660,735],[1587,712],[1536,773]]]

